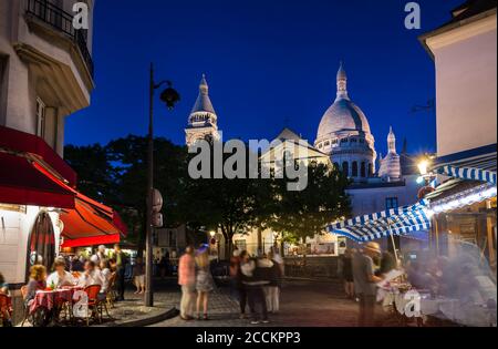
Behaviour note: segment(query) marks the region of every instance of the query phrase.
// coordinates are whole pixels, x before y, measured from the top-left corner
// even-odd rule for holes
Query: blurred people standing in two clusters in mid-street
[[[230,279],[238,296],[240,318],[250,322],[269,322],[269,314],[279,311],[280,284],[283,260],[278,253],[270,252],[252,257],[246,250],[236,249],[230,259]],[[178,284],[181,286],[180,318],[208,320],[209,294],[215,289],[210,271],[208,246],[195,249],[189,246],[179,259]]]

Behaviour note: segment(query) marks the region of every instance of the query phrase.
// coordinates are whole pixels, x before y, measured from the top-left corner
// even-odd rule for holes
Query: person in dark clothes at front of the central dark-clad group
[[[268,285],[269,281],[263,279],[262,265],[258,265],[258,260],[251,259],[246,254],[240,264],[240,271],[249,300],[249,309],[252,317],[251,325],[258,325],[260,320],[263,324],[269,324],[267,299],[263,291],[263,286]]]

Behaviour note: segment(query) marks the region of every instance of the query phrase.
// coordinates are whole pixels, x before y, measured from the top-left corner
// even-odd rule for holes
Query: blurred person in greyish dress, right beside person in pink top
[[[207,247],[200,249],[196,256],[196,290],[197,290],[197,319],[200,320],[200,306],[204,310],[204,320],[208,320],[209,292],[215,289],[211,270],[209,270],[209,254]]]

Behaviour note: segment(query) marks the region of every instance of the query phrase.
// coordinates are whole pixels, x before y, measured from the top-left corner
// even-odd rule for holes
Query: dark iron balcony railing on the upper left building
[[[86,43],[86,30],[76,30],[73,27],[73,16],[46,0],[28,0],[27,13],[38,20],[50,24],[52,28],[66,34],[80,49],[81,55],[86,63],[93,78],[94,65]]]

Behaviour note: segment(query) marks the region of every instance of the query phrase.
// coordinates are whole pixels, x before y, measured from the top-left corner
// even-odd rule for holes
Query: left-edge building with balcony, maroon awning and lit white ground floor
[[[51,266],[61,208],[74,208],[64,122],[90,105],[94,88],[94,1],[86,1],[89,30],[72,25],[75,2],[0,2],[0,271],[13,288],[29,266]]]

